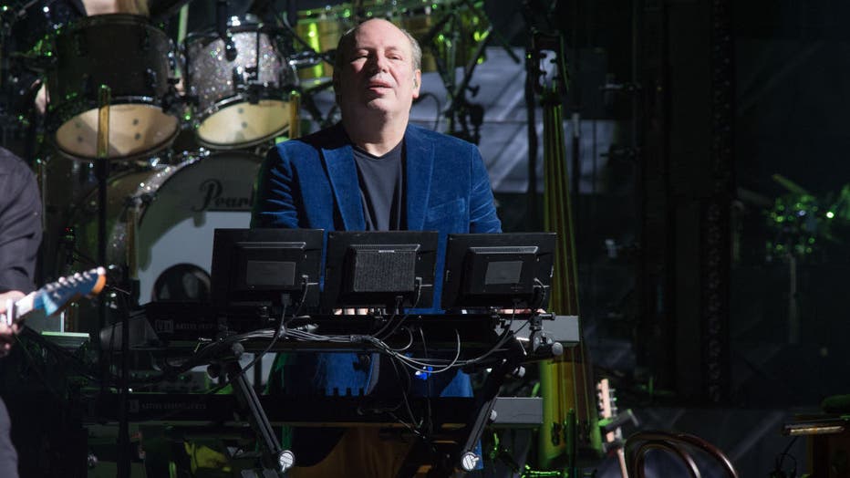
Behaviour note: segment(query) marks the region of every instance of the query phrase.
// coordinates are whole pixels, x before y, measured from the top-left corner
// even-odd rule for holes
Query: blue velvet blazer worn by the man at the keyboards
[[[469,142],[412,125],[404,141],[407,229],[440,233],[440,274],[447,234],[501,232],[490,178],[481,153]],[[253,227],[366,228],[357,166],[341,124],[279,143],[268,152],[257,181]],[[435,308],[441,289],[436,282]],[[371,388],[377,371],[374,364],[364,367],[357,354],[295,356],[285,371],[287,393],[358,395]],[[472,391],[468,379],[454,375],[436,381],[442,383],[430,384],[430,393],[470,396]]]

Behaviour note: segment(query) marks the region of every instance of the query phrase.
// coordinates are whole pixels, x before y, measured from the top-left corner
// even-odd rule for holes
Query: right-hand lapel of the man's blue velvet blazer
[[[407,229],[420,231],[425,224],[425,211],[428,208],[431,171],[434,167],[434,145],[411,127],[405,132],[404,141]]]

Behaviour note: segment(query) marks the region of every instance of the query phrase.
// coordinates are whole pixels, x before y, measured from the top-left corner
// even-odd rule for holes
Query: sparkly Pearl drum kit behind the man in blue
[[[193,5],[179,4],[150,5],[169,15]],[[51,26],[37,62],[47,65],[48,140],[37,164],[44,279],[105,261],[138,286],[134,302],[207,299],[213,230],[248,227],[264,151],[298,135],[302,85],[330,83],[339,36],[359,20],[387,18],[437,45],[423,44],[423,70],[433,71],[435,56],[451,54],[453,65],[475,50],[485,16],[474,4],[367,0],[275,23],[244,14],[180,41],[152,11]],[[465,22],[468,39],[449,45],[441,33],[449,16]],[[103,327],[92,315],[71,312],[65,331]]]

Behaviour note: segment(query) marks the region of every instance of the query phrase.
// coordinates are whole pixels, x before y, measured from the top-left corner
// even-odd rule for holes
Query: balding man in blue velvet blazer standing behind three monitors
[[[444,262],[447,234],[501,232],[478,149],[409,124],[410,107],[420,94],[420,61],[416,40],[383,19],[368,20],[342,36],[334,69],[342,120],[269,151],[257,182],[252,225],[438,231],[438,270]],[[440,288],[438,281],[435,308]],[[387,381],[398,374],[387,369],[386,362],[349,353],[292,354],[286,359],[284,388],[287,393],[306,395],[331,395],[335,389],[369,392],[378,386],[379,375],[378,390],[387,390]],[[411,393],[420,395],[472,393],[463,374],[443,373],[414,381]],[[362,444],[374,437],[352,438],[362,432],[347,432],[346,439],[310,475],[339,473],[334,466],[340,464],[350,476],[393,475],[403,451],[387,452],[382,444],[375,452],[378,447]],[[327,431],[296,429],[296,464],[322,460],[335,444],[322,441],[326,435]],[[356,461],[357,465],[352,464]],[[370,467],[369,462],[383,462],[388,470]],[[293,476],[307,475],[300,472],[296,468]]]

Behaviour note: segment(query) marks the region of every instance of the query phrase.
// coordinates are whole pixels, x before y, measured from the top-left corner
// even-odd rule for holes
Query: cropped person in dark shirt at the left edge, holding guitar
[[[0,148],[0,313],[8,300],[32,291],[38,245],[41,244],[41,201],[35,175],[11,152]],[[12,348],[17,327],[0,321],[0,356]],[[16,477],[17,453],[9,437],[11,424],[0,399],[0,476]]]

